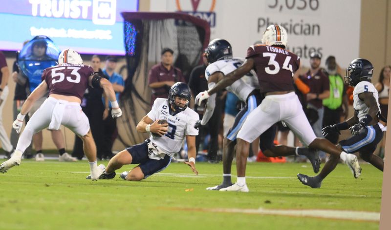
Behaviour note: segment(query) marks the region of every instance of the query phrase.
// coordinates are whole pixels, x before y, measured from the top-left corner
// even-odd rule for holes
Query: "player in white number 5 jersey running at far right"
[[[350,62],[346,70],[345,82],[354,86],[353,107],[356,113],[342,123],[325,127],[322,133],[327,136],[349,129],[352,136],[340,141],[338,147],[346,153],[360,153],[363,160],[383,171],[383,159],[373,152],[383,138],[383,131],[386,129],[379,122],[379,118],[383,121],[386,119],[380,113],[378,93],[371,83],[372,72],[373,66],[369,60],[358,58]],[[339,157],[330,155],[330,159],[318,175],[310,177],[299,173],[297,177],[304,185],[320,188],[322,181],[335,169],[338,161]]]

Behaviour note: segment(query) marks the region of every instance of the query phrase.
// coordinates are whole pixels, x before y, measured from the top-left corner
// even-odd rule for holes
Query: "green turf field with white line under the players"
[[[86,161],[22,160],[0,174],[0,229],[375,230],[383,173],[361,166],[357,180],[340,164],[311,189],[296,178],[313,175],[309,164],[249,163],[250,192],[236,193],[205,190],[220,182],[221,164],[197,163],[195,176],[172,163],[141,182],[119,178],[130,169],[123,167],[113,180],[92,182]]]

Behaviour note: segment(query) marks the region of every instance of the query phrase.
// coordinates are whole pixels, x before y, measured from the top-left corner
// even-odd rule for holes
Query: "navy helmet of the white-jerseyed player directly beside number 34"
[[[222,59],[232,58],[232,46],[224,39],[216,38],[209,42],[205,51],[205,57],[209,63]]]

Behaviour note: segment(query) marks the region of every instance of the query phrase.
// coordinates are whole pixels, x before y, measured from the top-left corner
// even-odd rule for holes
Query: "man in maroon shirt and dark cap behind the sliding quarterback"
[[[161,52],[161,62],[152,66],[148,74],[148,85],[152,89],[151,106],[157,97],[168,98],[168,92],[174,83],[186,83],[182,71],[173,66],[173,55],[174,50],[164,48]]]

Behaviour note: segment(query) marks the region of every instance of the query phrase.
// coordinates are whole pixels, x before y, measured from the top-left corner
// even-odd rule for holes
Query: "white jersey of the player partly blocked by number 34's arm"
[[[215,61],[208,65],[205,70],[206,80],[208,80],[209,76],[216,72],[221,72],[224,74],[224,76],[226,76],[232,71],[236,70],[241,64],[243,64],[243,62],[243,58],[232,58]],[[258,77],[256,73],[251,70],[250,73],[235,81],[232,85],[226,87],[226,89],[238,96],[241,101],[245,102],[251,92],[253,92],[255,89],[259,89]]]

